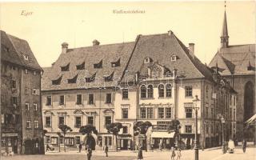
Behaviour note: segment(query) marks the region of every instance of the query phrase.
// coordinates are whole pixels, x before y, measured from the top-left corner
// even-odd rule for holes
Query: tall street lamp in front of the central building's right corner
[[[198,95],[195,95],[195,98],[193,100],[193,110],[195,111],[195,135],[194,135],[194,160],[198,160],[198,102],[200,99],[198,99]]]

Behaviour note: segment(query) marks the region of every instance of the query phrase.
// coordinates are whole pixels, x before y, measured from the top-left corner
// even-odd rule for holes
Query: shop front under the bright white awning
[[[174,146],[175,132],[154,131],[150,135],[151,150],[170,150]]]

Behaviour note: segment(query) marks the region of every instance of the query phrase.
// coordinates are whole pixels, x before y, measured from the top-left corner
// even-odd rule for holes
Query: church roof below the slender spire
[[[219,61],[219,58],[222,58],[223,62]],[[221,48],[218,50],[218,53],[215,54],[209,66],[215,66],[216,62],[218,62],[218,66],[226,66],[226,68],[230,70],[230,73],[221,72],[222,75],[255,74],[255,44]],[[247,70],[249,63],[252,70]]]

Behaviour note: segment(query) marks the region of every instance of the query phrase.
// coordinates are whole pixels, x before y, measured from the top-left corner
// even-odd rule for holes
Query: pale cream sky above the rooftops
[[[136,11],[136,14],[121,11]],[[69,48],[134,42],[138,34],[172,30],[209,64],[220,47],[224,2],[13,2],[0,3],[0,29],[26,39],[38,63],[51,66]],[[226,2],[230,45],[255,43],[255,2]]]

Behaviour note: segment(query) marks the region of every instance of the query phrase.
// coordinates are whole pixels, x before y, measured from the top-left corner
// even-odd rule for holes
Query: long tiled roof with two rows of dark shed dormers
[[[94,88],[116,86],[134,49],[134,42],[87,46],[82,48],[68,49],[60,54],[54,66],[43,68],[42,90],[69,90],[78,88]],[[111,62],[117,62],[120,58],[120,66],[112,67]],[[94,68],[94,64],[102,61],[102,68]],[[78,65],[85,62],[85,70],[77,70]],[[69,66],[68,71],[62,71],[61,66]],[[95,74],[96,73],[96,74]],[[114,81],[105,82],[105,78],[112,73]],[[92,78],[94,82],[86,82],[86,78]],[[68,83],[68,79],[78,75],[77,83]],[[62,76],[59,85],[53,85],[52,80]],[[110,76],[111,77],[111,76]]]

